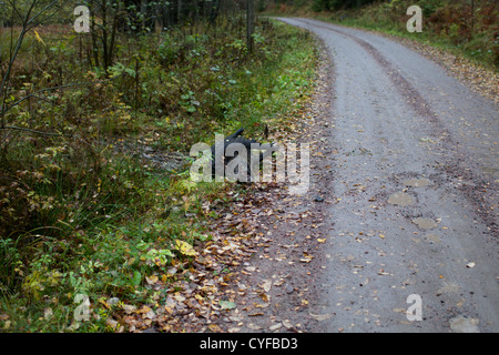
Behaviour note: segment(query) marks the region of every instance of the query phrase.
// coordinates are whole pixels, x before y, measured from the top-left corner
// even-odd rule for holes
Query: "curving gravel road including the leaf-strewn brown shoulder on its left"
[[[282,20],[329,57],[303,128],[312,185],[274,192],[227,328],[498,332],[497,106],[394,41]]]

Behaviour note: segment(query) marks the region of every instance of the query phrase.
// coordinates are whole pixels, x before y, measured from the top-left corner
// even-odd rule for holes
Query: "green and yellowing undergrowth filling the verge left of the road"
[[[0,329],[113,331],[124,304],[189,280],[211,223],[249,189],[193,183],[191,145],[240,126],[263,140],[265,123],[285,123],[312,90],[315,43],[267,19],[249,41],[245,1],[215,14],[177,1],[159,28],[118,12],[105,22],[116,2],[93,9],[90,33],[57,16],[27,31],[17,12],[31,2],[0,3]],[[88,322],[74,320],[78,295]]]

